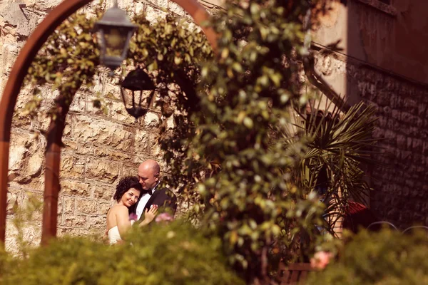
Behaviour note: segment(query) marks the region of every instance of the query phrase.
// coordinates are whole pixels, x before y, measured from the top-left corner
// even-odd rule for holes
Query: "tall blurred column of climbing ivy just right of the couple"
[[[182,141],[186,157],[170,182],[201,227],[223,238],[250,284],[270,282],[279,253],[324,224],[324,204],[292,177],[305,141],[297,136],[290,146],[275,134],[290,127],[291,108],[312,97],[300,79],[309,53],[303,21],[308,11],[316,19],[325,2],[227,1],[211,23],[218,56],[201,69],[195,130]]]

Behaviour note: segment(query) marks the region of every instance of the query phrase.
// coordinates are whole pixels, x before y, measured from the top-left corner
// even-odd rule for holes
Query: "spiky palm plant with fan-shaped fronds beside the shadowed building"
[[[346,113],[335,106],[331,112],[310,104],[305,111],[296,110],[294,134],[282,132],[282,139],[292,145],[296,134],[306,138],[305,151],[292,170],[297,186],[304,195],[317,192],[326,204],[326,228],[332,234],[341,221],[350,199],[367,204],[372,190],[362,167],[378,164],[372,138],[375,109],[359,103]],[[325,110],[329,110],[330,105]]]

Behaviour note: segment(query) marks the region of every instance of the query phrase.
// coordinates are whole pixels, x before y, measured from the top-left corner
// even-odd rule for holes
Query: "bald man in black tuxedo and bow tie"
[[[161,167],[155,160],[146,160],[138,167],[138,180],[140,181],[144,193],[141,193],[140,199],[136,203],[135,209],[132,212],[137,214],[138,220],[144,219],[143,213],[146,209],[150,209],[156,205],[160,209],[168,207],[172,214],[175,214],[177,209],[177,199],[175,195],[168,189],[157,189],[159,182],[161,182]]]

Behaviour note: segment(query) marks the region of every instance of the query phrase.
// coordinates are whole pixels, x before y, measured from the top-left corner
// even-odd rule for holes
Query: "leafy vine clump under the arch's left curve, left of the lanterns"
[[[65,119],[78,88],[84,83],[90,84],[98,72],[98,44],[91,33],[95,20],[74,14],[64,21],[48,38],[29,68],[26,84],[49,84],[52,90],[59,91],[56,105],[47,113],[54,120]],[[39,112],[40,102],[40,98],[31,100],[24,113],[34,116]]]

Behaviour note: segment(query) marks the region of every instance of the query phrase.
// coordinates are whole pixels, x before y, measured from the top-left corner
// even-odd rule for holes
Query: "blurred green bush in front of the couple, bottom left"
[[[25,259],[0,253],[0,284],[242,284],[225,266],[220,239],[188,224],[135,229],[109,247],[66,237]]]

